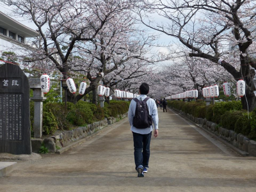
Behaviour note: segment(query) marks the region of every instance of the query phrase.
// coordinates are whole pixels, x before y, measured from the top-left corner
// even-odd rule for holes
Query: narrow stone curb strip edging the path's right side
[[[170,109],[170,108],[169,108]],[[220,137],[216,136],[216,134],[208,131],[207,129],[204,129],[204,127],[201,127],[200,125],[196,124],[195,122],[193,122],[192,120],[190,120],[188,117],[182,115],[181,113],[173,110],[173,109],[170,109],[172,110],[174,113],[176,113],[177,115],[179,116],[182,116],[182,118],[188,120],[189,122],[193,123],[196,127],[200,128],[202,131],[206,132],[207,134],[209,134],[210,136],[212,136],[212,138],[220,141],[221,143],[223,143],[224,145],[226,145],[227,147],[231,148],[232,150],[234,150],[234,152],[236,152],[237,154],[239,154],[240,156],[243,156],[243,157],[246,157],[248,156],[248,152],[244,152],[243,150],[240,150],[239,148],[235,147],[234,145],[231,145],[230,143],[228,143],[227,141],[221,139]]]

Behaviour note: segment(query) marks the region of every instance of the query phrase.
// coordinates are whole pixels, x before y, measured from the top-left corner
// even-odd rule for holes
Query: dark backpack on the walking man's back
[[[149,97],[146,97],[144,100],[138,100],[137,98],[133,99],[136,102],[136,109],[132,124],[137,129],[145,129],[153,124],[152,116],[149,115],[148,111],[148,99]]]

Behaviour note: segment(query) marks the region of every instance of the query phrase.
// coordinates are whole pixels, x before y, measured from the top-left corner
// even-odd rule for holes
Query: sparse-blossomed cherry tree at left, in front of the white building
[[[36,48],[26,54],[26,63],[33,63],[42,71],[59,70],[63,78],[74,75],[74,56],[80,50],[80,43],[93,44],[98,35],[111,30],[111,23],[125,10],[130,10],[136,1],[80,1],[80,0],[6,0],[2,1],[14,7],[13,13],[17,17],[31,20],[40,36],[33,42]],[[105,33],[106,34],[106,33]],[[95,58],[86,61],[94,63]],[[80,60],[84,61],[84,60]],[[90,63],[89,62],[89,63]],[[84,66],[86,68],[86,66]],[[102,74],[95,74],[90,90],[94,90],[102,79]],[[76,102],[70,94],[69,101]]]

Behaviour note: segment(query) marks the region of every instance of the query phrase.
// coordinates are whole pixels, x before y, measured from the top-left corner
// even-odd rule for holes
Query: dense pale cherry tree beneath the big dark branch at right
[[[203,58],[184,57],[177,63],[165,65],[159,72],[162,95],[175,95],[187,90],[198,90],[198,98],[202,96],[202,88],[213,84],[221,84],[234,78],[220,65],[212,65]]]

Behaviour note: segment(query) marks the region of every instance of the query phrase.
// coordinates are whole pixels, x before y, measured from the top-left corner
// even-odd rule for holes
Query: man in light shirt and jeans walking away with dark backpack
[[[144,177],[144,173],[148,172],[152,124],[154,124],[154,137],[158,136],[156,102],[147,97],[148,91],[148,84],[142,83],[139,90],[140,96],[132,99],[128,111],[133,134],[135,169],[138,172],[138,177]]]

